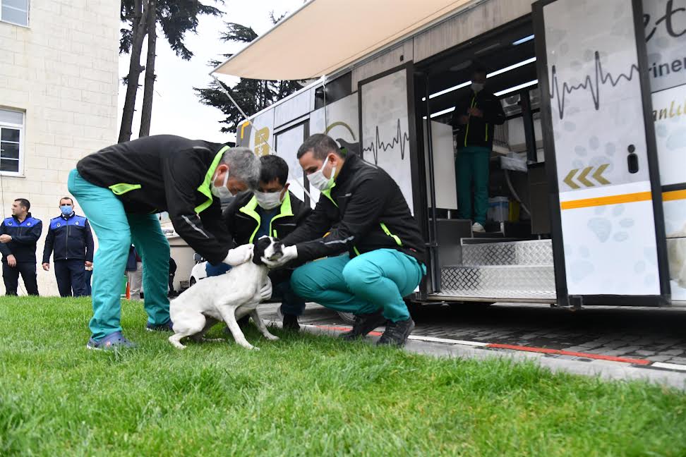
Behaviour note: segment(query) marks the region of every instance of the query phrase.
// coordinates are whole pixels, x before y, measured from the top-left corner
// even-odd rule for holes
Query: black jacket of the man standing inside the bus
[[[469,116],[467,110],[474,107],[483,111],[483,117]],[[459,116],[469,116],[467,125],[459,123]],[[457,133],[457,147],[479,146],[493,149],[493,133],[495,126],[505,122],[505,111],[498,97],[491,92],[480,90],[478,93],[470,91],[459,99],[452,112],[450,125],[459,128]]]

